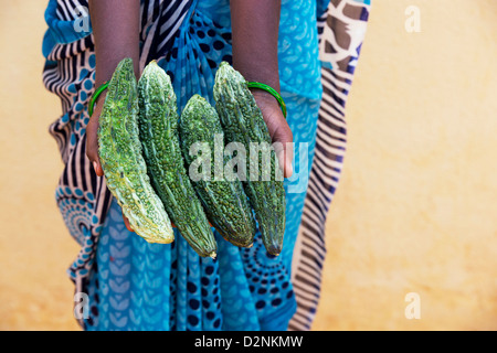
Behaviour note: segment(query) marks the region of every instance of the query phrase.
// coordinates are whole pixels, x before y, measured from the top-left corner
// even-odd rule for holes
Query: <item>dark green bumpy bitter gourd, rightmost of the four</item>
[[[275,178],[276,168],[279,168],[275,151],[271,150],[271,180],[262,175],[268,172],[263,169],[262,158],[258,158],[258,178],[251,179],[250,172],[251,160],[254,161],[256,157],[250,156],[250,143],[272,143],[261,109],[243,76],[226,62],[222,62],[218,68],[213,93],[226,142],[245,146],[246,181],[243,185],[254,208],[264,246],[269,254],[279,255],[285,233],[285,189],[283,181]]]

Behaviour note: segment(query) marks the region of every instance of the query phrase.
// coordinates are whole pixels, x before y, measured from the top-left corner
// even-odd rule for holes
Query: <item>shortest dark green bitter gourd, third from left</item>
[[[203,97],[192,96],[181,113],[179,126],[187,165],[190,168],[194,161],[197,163],[193,167],[201,165],[203,160],[210,165],[210,170],[202,170],[203,178],[200,179],[199,175],[199,180],[192,182],[209,221],[223,238],[233,245],[252,246],[255,222],[243,185],[239,180],[228,181],[222,174],[223,165],[230,157],[224,157],[223,153],[223,129],[214,107]],[[207,143],[210,153],[204,156],[200,152],[201,156],[190,156],[190,148],[197,142]],[[220,146],[215,146],[216,142]],[[216,148],[221,151],[221,157],[218,158],[214,156]]]

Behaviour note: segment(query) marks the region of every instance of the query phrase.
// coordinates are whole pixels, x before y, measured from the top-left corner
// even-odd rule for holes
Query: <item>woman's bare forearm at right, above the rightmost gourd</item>
[[[231,0],[233,67],[279,92],[281,0]]]

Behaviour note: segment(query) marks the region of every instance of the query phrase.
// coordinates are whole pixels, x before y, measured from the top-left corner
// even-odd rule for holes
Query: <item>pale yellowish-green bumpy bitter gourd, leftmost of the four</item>
[[[171,221],[150,184],[141,156],[137,83],[130,58],[118,64],[98,121],[98,153],[107,188],[131,228],[149,243],[171,243]]]

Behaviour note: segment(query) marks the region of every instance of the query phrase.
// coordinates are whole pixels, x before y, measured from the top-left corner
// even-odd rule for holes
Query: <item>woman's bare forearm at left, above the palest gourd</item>
[[[139,77],[139,0],[89,0],[95,40],[95,86],[110,79],[117,64],[131,57]]]

